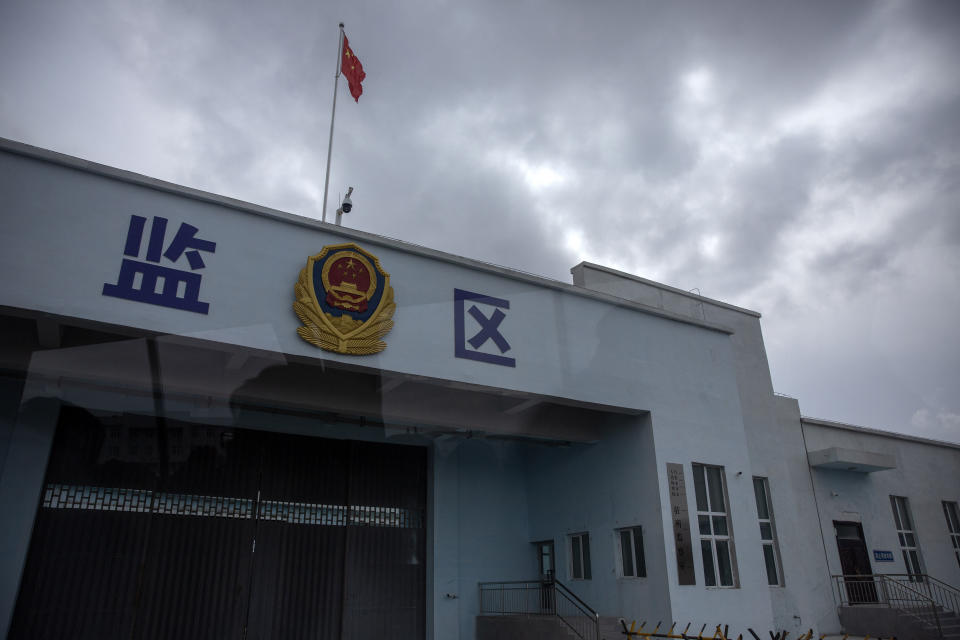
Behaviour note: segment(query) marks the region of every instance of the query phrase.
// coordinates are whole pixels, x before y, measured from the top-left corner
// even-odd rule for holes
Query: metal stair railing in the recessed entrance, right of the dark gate
[[[558,580],[481,582],[480,613],[553,616],[583,640],[600,639],[600,616]]]

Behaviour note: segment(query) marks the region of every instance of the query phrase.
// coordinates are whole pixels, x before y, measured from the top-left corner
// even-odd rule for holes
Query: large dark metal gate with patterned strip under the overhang
[[[422,638],[426,451],[65,408],[10,638]]]

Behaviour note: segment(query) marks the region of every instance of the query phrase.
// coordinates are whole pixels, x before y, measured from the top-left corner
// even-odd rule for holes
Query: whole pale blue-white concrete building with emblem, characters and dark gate
[[[11,638],[949,625],[960,447],[801,418],[754,311],[11,141],[0,207]]]

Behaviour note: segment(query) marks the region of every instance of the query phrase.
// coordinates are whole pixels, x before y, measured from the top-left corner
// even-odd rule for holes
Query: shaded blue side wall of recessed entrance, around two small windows
[[[670,619],[661,526],[668,509],[660,502],[650,417],[611,417],[595,427],[596,444],[530,449],[530,539],[554,541],[558,578],[596,603],[600,615]],[[642,528],[646,576],[620,575],[617,530],[628,527]],[[570,536],[583,532],[590,534],[590,580],[570,570]]]

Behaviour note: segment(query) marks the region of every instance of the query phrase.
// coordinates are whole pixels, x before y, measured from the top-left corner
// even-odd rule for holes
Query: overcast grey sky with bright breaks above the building
[[[763,313],[805,415],[960,441],[960,3],[3,0],[0,136]],[[330,206],[332,211],[334,206]]]

